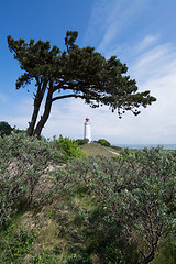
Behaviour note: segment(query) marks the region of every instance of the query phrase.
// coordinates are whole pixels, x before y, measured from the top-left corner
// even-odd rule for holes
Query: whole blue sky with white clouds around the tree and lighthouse
[[[21,74],[7,44],[13,38],[48,40],[64,48],[67,30],[78,31],[77,44],[95,46],[107,58],[127,63],[140,91],[157,101],[135,117],[120,120],[107,107],[91,109],[81,100],[53,105],[43,135],[82,138],[90,118],[92,140],[113,144],[176,143],[176,1],[174,0],[1,0],[0,1],[0,121],[25,129],[33,107],[33,87],[15,90]]]

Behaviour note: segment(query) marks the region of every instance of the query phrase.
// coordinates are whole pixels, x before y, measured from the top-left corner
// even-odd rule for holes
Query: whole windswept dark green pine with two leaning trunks
[[[150,91],[138,91],[136,81],[127,76],[128,67],[116,56],[106,59],[94,47],[75,44],[76,31],[67,31],[66,51],[51,47],[48,41],[13,40],[8,45],[24,70],[16,80],[16,89],[35,80],[34,108],[28,134],[40,136],[52,109],[52,103],[66,98],[81,98],[92,108],[109,106],[119,117],[130,110],[139,114],[139,107],[146,107],[156,99]],[[42,102],[44,112],[37,121]]]

